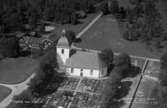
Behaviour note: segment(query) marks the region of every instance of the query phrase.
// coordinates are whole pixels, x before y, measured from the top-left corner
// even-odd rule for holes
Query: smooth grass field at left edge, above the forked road
[[[3,59],[0,61],[0,83],[22,82],[38,69],[39,63],[30,58]]]

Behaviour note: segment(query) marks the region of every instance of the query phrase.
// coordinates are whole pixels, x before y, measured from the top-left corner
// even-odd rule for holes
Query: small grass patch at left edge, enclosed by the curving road
[[[7,97],[11,92],[11,89],[4,87],[4,86],[0,86],[0,102]]]

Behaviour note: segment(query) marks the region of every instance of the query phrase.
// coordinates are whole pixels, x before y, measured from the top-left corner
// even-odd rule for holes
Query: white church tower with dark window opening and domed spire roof
[[[57,47],[56,47],[57,54],[60,56],[60,58],[62,59],[64,64],[70,56],[70,45],[69,45],[69,41],[65,35],[66,35],[66,31],[63,30],[62,36],[59,38],[59,40],[57,42]]]

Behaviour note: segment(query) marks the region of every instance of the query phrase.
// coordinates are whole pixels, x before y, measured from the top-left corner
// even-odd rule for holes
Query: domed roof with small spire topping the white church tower
[[[65,35],[66,35],[66,30],[64,29],[62,31],[62,36],[59,38],[57,42],[58,47],[69,47],[69,41]]]

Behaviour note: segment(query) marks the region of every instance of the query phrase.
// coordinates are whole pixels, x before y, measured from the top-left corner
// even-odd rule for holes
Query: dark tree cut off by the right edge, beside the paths
[[[167,86],[167,53],[165,53],[161,59],[161,73],[159,74],[159,79],[162,85]]]

